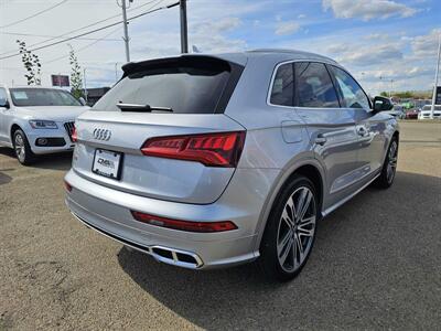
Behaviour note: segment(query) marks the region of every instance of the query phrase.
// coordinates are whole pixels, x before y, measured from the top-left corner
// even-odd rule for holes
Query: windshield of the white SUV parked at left
[[[18,107],[82,106],[69,93],[55,88],[11,88],[12,103]]]

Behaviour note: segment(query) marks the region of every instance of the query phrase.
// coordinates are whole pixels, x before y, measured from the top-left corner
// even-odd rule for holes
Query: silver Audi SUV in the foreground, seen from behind
[[[298,51],[129,63],[78,117],[66,204],[85,225],[191,269],[258,259],[300,273],[318,222],[373,182],[392,184],[390,100]]]

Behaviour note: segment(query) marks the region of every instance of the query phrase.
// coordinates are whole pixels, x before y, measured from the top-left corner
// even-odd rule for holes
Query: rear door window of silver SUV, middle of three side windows
[[[340,108],[337,94],[324,64],[298,62],[294,72],[299,107]]]

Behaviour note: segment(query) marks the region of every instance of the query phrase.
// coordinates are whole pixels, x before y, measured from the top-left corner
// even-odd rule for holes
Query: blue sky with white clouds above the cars
[[[173,2],[133,0],[128,17]],[[440,0],[189,0],[187,8],[190,46],[202,52],[316,52],[346,66],[370,94],[429,89],[433,84]],[[39,47],[62,40],[55,36],[117,22],[120,13],[116,0],[0,0],[0,83],[25,83],[20,57],[8,57],[17,53],[17,39]],[[178,7],[131,21],[132,60],[178,54],[179,29]],[[73,30],[77,31],[69,33]],[[121,35],[122,26],[117,25],[35,51],[43,85],[50,84],[51,74],[69,73],[67,43],[86,68],[87,86],[111,85],[125,62]]]

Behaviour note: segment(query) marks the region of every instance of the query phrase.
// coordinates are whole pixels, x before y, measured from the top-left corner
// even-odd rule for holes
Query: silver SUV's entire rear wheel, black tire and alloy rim
[[[308,261],[315,239],[318,195],[313,183],[297,175],[280,192],[260,245],[260,266],[279,281],[293,279]]]

